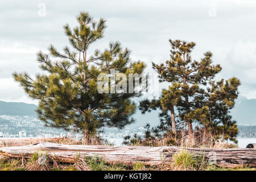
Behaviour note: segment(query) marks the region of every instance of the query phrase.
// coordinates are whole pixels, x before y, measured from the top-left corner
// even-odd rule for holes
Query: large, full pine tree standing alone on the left
[[[130,99],[141,95],[98,93],[98,75],[110,74],[110,69],[126,76],[141,74],[145,65],[131,61],[130,51],[118,42],[110,43],[104,51],[96,50],[89,57],[89,47],[104,36],[106,20],[101,18],[96,22],[89,13],[81,12],[77,22],[79,26],[73,30],[68,24],[64,26],[72,48],[65,46],[59,52],[51,45],[49,55],[38,52],[37,60],[47,73],[38,74],[35,79],[27,73],[13,75],[28,96],[39,100],[37,112],[46,126],[79,129],[85,141],[89,141],[101,127],[122,129],[132,123],[136,106]]]

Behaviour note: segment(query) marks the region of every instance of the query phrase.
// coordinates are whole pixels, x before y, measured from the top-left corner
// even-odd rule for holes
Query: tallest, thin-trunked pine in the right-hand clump
[[[168,104],[179,106],[179,115],[183,121],[187,122],[188,131],[191,134],[193,132],[192,119],[188,115],[191,112],[192,103],[189,101],[189,97],[202,92],[199,85],[206,85],[207,81],[221,71],[221,67],[218,64],[212,64],[212,53],[210,52],[205,53],[205,57],[201,61],[192,60],[191,51],[196,45],[193,42],[170,40],[170,43],[171,59],[167,60],[166,64],[152,63],[152,66],[158,72],[161,82],[171,83],[169,90],[175,89],[176,84],[179,84],[179,94],[172,93],[173,96],[169,97],[172,102]],[[179,103],[174,100],[175,98]]]

